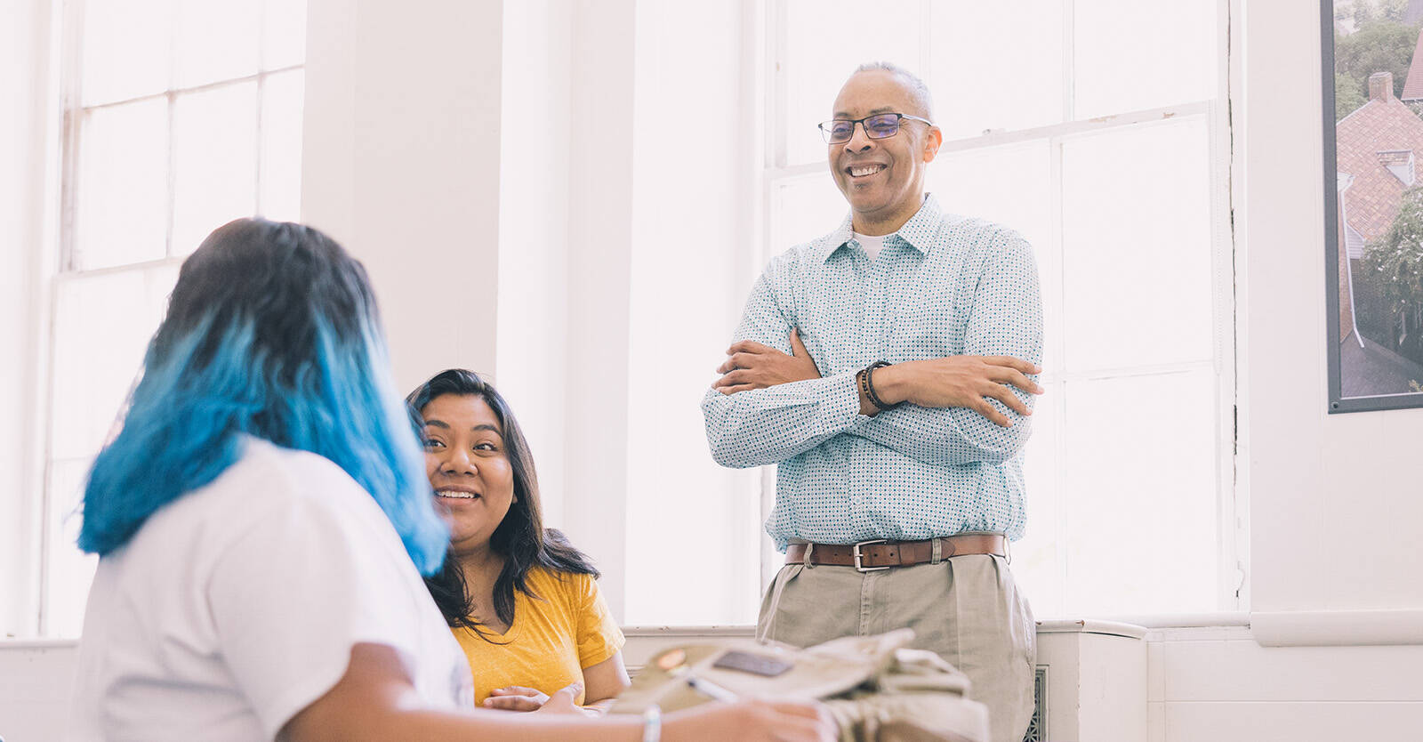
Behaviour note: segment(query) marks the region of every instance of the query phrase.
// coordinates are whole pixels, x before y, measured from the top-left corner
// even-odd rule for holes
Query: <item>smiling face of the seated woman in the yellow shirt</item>
[[[441,394],[420,410],[425,473],[455,553],[482,548],[514,503],[504,427],[484,397]]]

